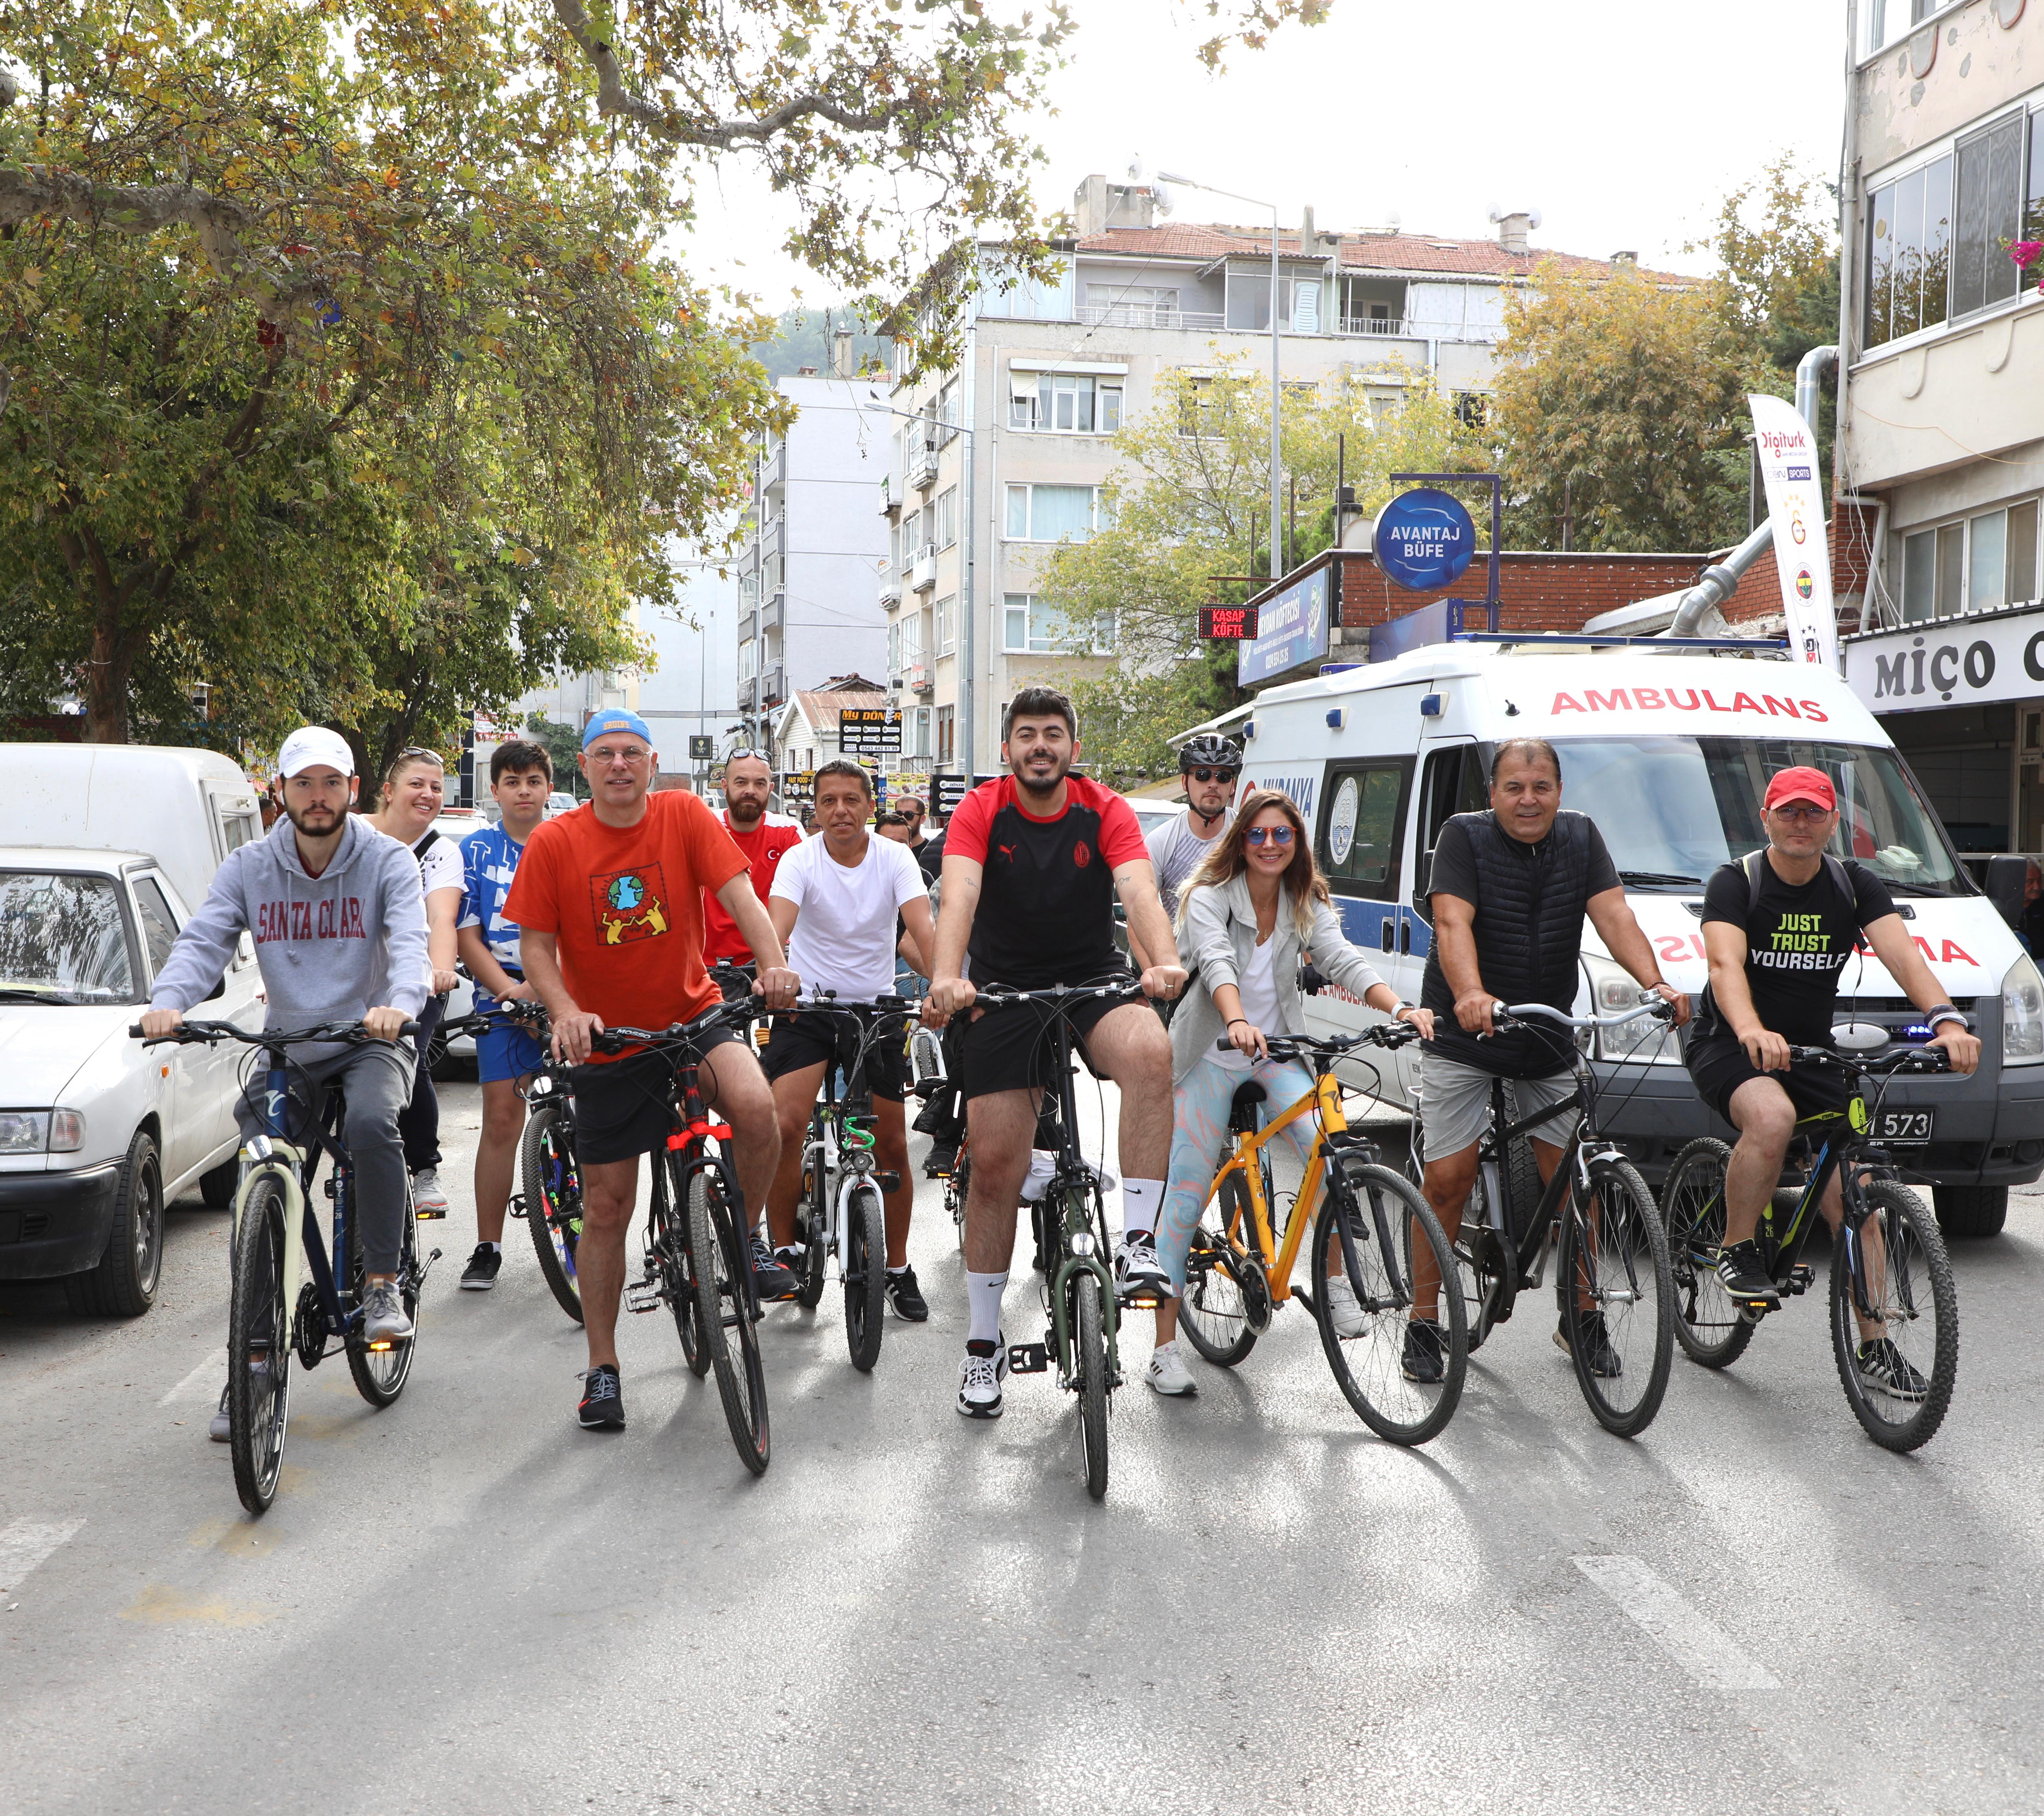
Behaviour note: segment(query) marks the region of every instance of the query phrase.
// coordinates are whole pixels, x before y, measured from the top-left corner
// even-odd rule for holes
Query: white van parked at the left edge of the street
[[[129,1023],[235,846],[256,788],[219,752],[0,744],[0,1279],[82,1311],[155,1299],[164,1205],[235,1187],[235,1048],[143,1048]],[[243,936],[202,1013],[260,1028]]]

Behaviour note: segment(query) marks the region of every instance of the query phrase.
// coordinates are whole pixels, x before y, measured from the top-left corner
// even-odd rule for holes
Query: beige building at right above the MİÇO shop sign
[[[1838,474],[1874,572],[1846,678],[1962,848],[2036,852],[2044,6],[1860,0],[1854,27]]]

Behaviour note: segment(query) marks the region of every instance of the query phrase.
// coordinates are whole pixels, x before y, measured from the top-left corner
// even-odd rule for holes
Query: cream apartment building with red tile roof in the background
[[[1365,382],[1382,409],[1423,378],[1482,394],[1506,286],[1543,257],[1611,268],[1535,249],[1523,212],[1492,241],[1318,231],[1308,210],[1278,237],[1273,298],[1267,227],[1171,223],[1151,188],[1102,176],[1079,184],[1073,223],[1055,282],[983,286],[959,366],[891,392],[891,462],[869,509],[887,535],[883,672],[910,764],[985,774],[1004,703],[1069,666],[1036,580],[1055,543],[1100,525],[1110,439],[1161,374],[1198,378],[1230,353],[1267,372],[1275,304],[1286,382]]]

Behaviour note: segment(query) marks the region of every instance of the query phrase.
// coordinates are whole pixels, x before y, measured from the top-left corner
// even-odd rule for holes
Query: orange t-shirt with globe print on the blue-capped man
[[[703,891],[746,868],[699,797],[662,788],[638,825],[583,805],[533,827],[503,915],[554,936],[568,991],[607,1028],[666,1028],[719,1001],[703,970]]]

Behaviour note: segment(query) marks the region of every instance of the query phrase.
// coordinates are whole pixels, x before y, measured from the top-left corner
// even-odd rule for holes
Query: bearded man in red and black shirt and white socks
[[[1169,999],[1186,987],[1134,809],[1112,788],[1073,776],[1077,754],[1071,701],[1055,688],[1022,688],[1008,707],[1002,737],[1010,772],[967,795],[944,835],[936,962],[924,1007],[932,1028],[967,1015],[985,985],[1038,991],[1134,983],[1114,948],[1116,895],[1128,909],[1130,946],[1163,960],[1143,972],[1143,993]],[[1171,1156],[1171,1040],[1143,1003],[1091,999],[1063,1013],[1087,1064],[1122,1093],[1116,1285],[1122,1293],[1167,1291],[1153,1232]],[[1002,1414],[1000,1383],[1008,1373],[1002,1291],[1042,1087],[1051,1083],[1047,1034],[1047,1011],[1030,1003],[973,1015],[959,1040],[973,1142],[965,1205],[971,1326],[959,1371],[965,1418]]]

